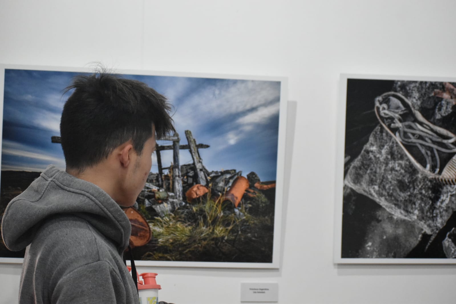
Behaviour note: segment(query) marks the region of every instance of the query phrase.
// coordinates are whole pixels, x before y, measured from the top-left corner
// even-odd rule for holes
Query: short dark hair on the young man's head
[[[141,154],[155,126],[157,139],[175,132],[166,97],[145,83],[116,74],[80,75],[63,107],[60,136],[67,167],[82,172],[132,140]]]

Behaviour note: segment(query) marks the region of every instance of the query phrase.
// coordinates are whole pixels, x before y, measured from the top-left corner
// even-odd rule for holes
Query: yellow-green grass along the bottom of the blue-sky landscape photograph
[[[156,248],[142,259],[270,262],[273,229],[264,229],[270,220],[250,216],[243,204],[234,212],[223,201],[209,191],[187,209],[149,221]]]

